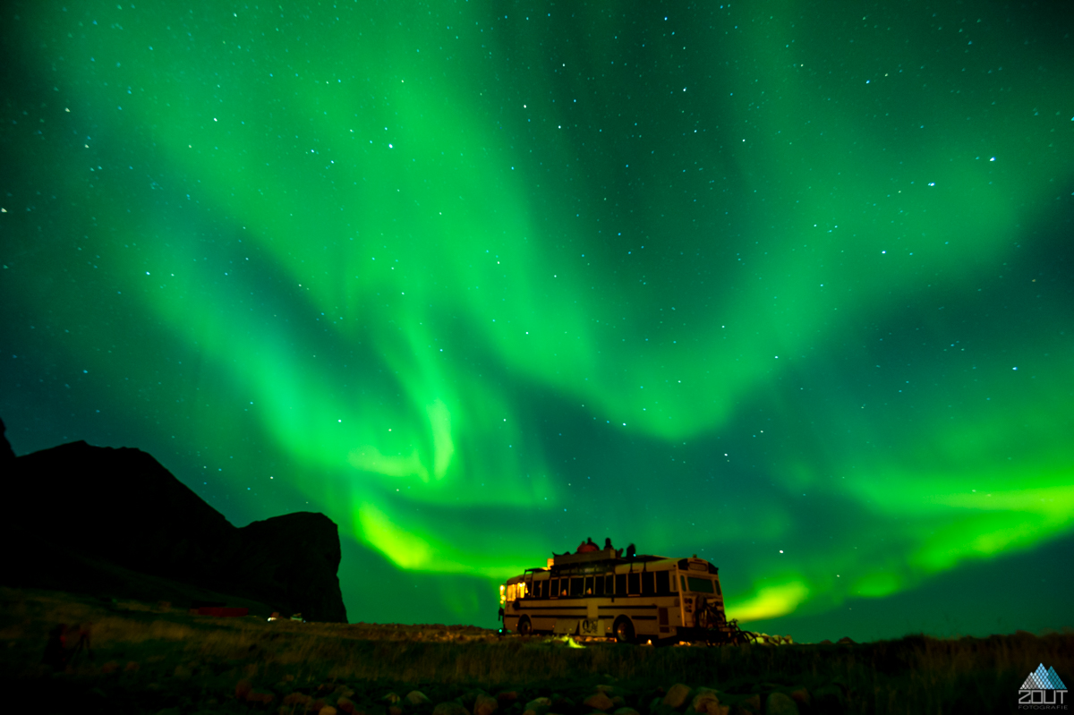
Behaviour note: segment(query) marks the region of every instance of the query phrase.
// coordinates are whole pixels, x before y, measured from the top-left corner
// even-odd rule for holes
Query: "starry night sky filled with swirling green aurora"
[[[1074,626],[1059,5],[10,2],[0,415],[494,626],[586,537],[798,640]]]

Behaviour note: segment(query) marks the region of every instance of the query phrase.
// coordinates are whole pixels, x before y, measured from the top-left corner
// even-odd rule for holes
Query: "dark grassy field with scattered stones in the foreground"
[[[66,668],[42,665],[60,623],[84,626],[92,659],[84,650]],[[479,690],[498,696],[491,702],[504,715],[1002,713],[1017,709],[1018,687],[1042,662],[1070,681],[1074,633],[656,648],[500,638],[463,626],[213,618],[166,604],[0,589],[0,698],[33,713],[432,715],[449,702],[475,712]],[[678,706],[674,698],[663,702],[676,684],[692,688]],[[599,709],[584,703],[598,687],[610,699]],[[693,706],[700,688],[715,692]],[[429,702],[409,702],[412,690]],[[540,697],[549,701],[532,703]],[[445,707],[436,715],[451,715]]]

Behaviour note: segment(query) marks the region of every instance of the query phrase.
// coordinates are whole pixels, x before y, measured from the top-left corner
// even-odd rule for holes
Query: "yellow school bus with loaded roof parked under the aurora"
[[[521,634],[614,637],[622,643],[737,643],[719,569],[694,555],[620,556],[611,549],[556,555],[499,587],[504,628]]]

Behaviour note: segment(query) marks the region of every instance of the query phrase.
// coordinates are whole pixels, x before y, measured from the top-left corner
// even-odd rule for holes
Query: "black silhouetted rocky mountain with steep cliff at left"
[[[78,441],[16,457],[2,421],[0,488],[4,585],[347,622],[324,514],[236,528],[141,450]]]

